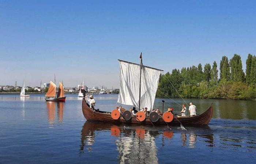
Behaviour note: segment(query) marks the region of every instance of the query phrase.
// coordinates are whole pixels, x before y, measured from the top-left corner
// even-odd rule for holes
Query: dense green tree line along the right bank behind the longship
[[[201,63],[197,67],[173,69],[172,73],[167,72],[160,76],[156,96],[256,99],[255,55],[248,54],[245,72],[242,69],[241,56],[237,54],[230,60],[227,56],[222,56],[219,70],[216,61],[212,66],[207,63],[204,69]]]

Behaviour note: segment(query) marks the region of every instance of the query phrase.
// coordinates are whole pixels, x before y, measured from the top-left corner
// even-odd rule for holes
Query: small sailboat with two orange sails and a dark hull
[[[46,101],[55,101],[55,102],[60,102],[66,101],[66,97],[64,96],[64,86],[63,84],[60,82],[59,83],[59,90],[58,90],[58,94],[56,97],[56,84],[53,83],[52,81],[50,81],[50,85],[49,85],[49,89],[47,91],[47,93],[45,94],[45,100]]]

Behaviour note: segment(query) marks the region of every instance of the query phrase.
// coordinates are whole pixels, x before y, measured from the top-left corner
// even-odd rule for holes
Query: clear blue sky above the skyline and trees
[[[255,1],[0,0],[0,85],[119,87],[117,59],[172,71],[256,54]]]

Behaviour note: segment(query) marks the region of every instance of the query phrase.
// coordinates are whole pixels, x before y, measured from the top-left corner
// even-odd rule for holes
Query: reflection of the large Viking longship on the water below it
[[[208,126],[206,127],[210,129]],[[183,132],[180,129],[170,130],[167,127],[154,129],[148,126],[117,126],[109,123],[86,121],[81,131],[80,155],[85,152],[93,152],[93,145],[97,142],[96,134],[100,131],[108,132],[114,136],[120,163],[158,163],[158,149],[172,147],[173,138],[178,139],[179,145],[194,148],[197,137],[202,137],[204,145],[213,147],[213,134],[195,134]],[[180,133],[181,132],[181,133]],[[108,135],[106,134],[106,135]],[[156,146],[156,140],[161,140],[161,147]]]

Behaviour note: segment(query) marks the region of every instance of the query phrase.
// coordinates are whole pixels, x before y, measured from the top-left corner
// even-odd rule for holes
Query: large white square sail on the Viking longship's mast
[[[153,109],[155,94],[162,70],[142,65],[141,91],[140,87],[140,65],[122,60],[120,62],[120,90],[117,102],[141,108]]]

